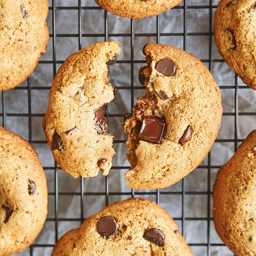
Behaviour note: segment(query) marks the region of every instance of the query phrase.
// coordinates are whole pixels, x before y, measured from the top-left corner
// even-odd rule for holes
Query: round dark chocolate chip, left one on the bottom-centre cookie
[[[111,216],[101,218],[97,223],[97,231],[103,238],[109,238],[116,234],[117,223]]]

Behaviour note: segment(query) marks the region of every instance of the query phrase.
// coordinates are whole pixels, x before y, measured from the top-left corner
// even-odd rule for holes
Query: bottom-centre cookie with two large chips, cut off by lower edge
[[[102,236],[102,231],[109,237]],[[172,217],[144,198],[130,198],[107,206],[70,230],[51,256],[194,255]]]

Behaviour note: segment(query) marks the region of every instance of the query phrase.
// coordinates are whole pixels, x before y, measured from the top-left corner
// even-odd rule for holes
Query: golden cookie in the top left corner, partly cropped
[[[0,90],[25,81],[46,51],[47,0],[0,0]]]

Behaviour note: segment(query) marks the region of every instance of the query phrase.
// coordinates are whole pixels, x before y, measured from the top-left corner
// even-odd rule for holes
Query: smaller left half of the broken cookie
[[[70,55],[54,77],[44,132],[55,161],[75,178],[107,175],[111,168],[115,152],[104,108],[116,92],[107,67],[119,52],[115,41],[87,46]]]

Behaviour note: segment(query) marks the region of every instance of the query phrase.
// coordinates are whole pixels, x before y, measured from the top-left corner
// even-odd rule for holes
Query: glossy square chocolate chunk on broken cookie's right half
[[[161,143],[164,134],[165,122],[153,116],[143,116],[138,140]]]

